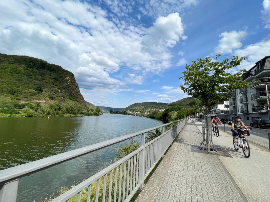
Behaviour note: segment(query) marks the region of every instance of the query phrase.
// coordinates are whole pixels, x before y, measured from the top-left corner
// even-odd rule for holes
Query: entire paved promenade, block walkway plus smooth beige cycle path
[[[245,158],[222,126],[219,137],[213,136],[218,152],[200,150],[201,141],[201,122],[188,121],[136,202],[270,201],[269,151],[250,144]]]

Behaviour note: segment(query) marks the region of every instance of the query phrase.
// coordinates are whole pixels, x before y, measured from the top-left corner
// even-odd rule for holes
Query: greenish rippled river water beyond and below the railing
[[[50,119],[0,117],[0,170],[161,124],[160,120],[107,113]],[[39,201],[61,186],[87,179],[113,161],[117,146],[21,178],[17,201]]]

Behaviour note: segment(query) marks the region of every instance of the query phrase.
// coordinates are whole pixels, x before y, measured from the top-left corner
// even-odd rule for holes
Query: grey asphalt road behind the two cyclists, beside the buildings
[[[220,130],[224,131],[224,124],[218,125]],[[254,142],[255,144],[258,144],[265,147],[266,149],[268,148],[269,151],[269,140],[268,140],[268,133],[270,133],[270,128],[262,128],[259,129],[258,127],[250,127],[247,125],[248,128],[252,128],[252,130],[249,132],[250,136],[247,137],[247,140],[249,142]],[[228,133],[231,133],[231,126],[228,124],[225,124],[225,131]]]

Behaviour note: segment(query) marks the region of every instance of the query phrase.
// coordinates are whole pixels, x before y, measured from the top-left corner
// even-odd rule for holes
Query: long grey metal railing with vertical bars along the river
[[[114,202],[130,201],[135,192],[143,188],[144,180],[151,170],[153,170],[156,163],[164,157],[164,153],[173,143],[186,122],[187,119],[174,121],[62,154],[0,170],[0,202],[16,202],[19,180],[24,176],[141,135],[141,147],[139,149],[114,162],[112,165],[107,166],[100,172],[52,200],[52,202],[68,202],[70,198],[76,197],[77,201],[80,202],[82,191],[86,190],[87,202],[97,202],[101,200]],[[162,134],[146,143],[146,133],[161,127]],[[167,127],[170,129],[165,131]]]

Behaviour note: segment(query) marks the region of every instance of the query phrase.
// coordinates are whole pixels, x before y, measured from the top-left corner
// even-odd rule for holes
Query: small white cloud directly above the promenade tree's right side
[[[242,46],[241,41],[246,35],[247,32],[245,30],[239,32],[231,31],[221,33],[219,37],[222,37],[222,39],[219,40],[219,44],[215,48],[215,53],[232,53],[234,49]]]

